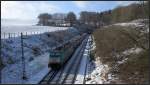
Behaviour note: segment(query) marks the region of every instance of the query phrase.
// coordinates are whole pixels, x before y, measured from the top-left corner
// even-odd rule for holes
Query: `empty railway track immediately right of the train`
[[[57,79],[56,84],[73,84],[76,78],[76,75],[78,73],[78,68],[82,59],[82,54],[84,52],[84,48],[86,45],[87,39],[82,43],[81,49],[79,50],[78,54],[74,56],[73,60],[76,60],[72,62],[68,68],[65,68],[63,73],[60,74],[60,76]]]

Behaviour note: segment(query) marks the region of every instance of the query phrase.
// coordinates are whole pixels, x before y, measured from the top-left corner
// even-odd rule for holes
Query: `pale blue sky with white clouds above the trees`
[[[1,1],[2,19],[35,20],[40,13],[102,12],[136,1]]]

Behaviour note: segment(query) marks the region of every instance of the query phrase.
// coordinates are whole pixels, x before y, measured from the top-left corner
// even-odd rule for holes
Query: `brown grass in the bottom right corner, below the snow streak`
[[[134,84],[146,84],[149,80],[149,51],[129,55],[129,60],[119,66],[118,75],[122,80]]]

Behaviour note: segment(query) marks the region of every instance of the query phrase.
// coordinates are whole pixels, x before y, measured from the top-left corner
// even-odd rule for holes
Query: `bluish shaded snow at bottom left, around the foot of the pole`
[[[22,80],[22,64],[21,62],[9,65],[2,69],[2,83],[5,84],[37,84],[50,70],[47,66],[48,53],[38,56],[32,62],[26,63],[27,80]],[[17,69],[17,70],[16,70]],[[7,75],[7,76],[6,76]]]

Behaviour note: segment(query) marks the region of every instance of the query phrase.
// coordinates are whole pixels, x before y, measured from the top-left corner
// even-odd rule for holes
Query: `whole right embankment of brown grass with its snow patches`
[[[108,72],[104,73],[103,84],[149,83],[148,22],[148,19],[137,19],[116,23],[104,26],[93,33],[96,42],[95,60],[108,65],[109,68]],[[101,74],[91,74],[92,77],[96,77],[89,78],[89,83],[100,84]]]

